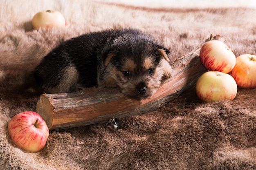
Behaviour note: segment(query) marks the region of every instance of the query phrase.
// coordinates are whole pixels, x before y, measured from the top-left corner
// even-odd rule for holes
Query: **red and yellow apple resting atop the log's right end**
[[[200,61],[209,71],[229,73],[236,64],[236,56],[221,41],[211,40],[202,45]]]

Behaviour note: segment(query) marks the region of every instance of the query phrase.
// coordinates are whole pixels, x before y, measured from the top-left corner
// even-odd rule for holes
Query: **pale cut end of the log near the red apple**
[[[36,112],[45,120],[46,125],[50,129],[53,120],[52,107],[46,94],[40,95],[40,100],[36,104]]]

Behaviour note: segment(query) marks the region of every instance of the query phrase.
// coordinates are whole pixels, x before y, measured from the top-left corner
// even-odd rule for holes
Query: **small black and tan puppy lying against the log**
[[[84,87],[120,88],[130,97],[153,95],[163,78],[172,76],[169,51],[136,29],[106,30],[67,40],[36,67],[46,93]]]

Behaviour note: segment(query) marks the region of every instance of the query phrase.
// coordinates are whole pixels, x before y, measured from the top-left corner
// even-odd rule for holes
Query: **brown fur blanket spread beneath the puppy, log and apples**
[[[64,29],[32,29],[32,17],[48,9],[64,15]],[[120,118],[124,128],[115,133],[104,122],[52,130],[36,153],[15,146],[7,130],[17,113],[36,111],[41,92],[34,68],[64,40],[137,28],[159,39],[174,61],[220,34],[236,56],[255,55],[255,13],[253,7],[0,0],[0,170],[255,170],[256,89],[238,88],[233,101],[205,103],[192,87],[156,111]]]

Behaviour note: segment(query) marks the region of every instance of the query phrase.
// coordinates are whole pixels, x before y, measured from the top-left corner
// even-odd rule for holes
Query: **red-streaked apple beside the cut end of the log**
[[[11,140],[29,152],[42,150],[49,137],[49,129],[36,112],[25,111],[13,116],[8,124]]]

